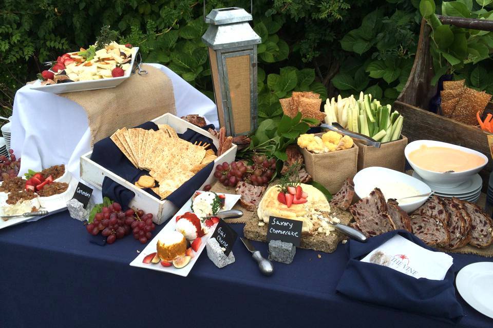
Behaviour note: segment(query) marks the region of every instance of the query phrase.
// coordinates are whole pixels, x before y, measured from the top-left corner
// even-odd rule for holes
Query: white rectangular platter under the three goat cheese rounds
[[[233,195],[233,194],[218,194],[218,195],[225,195],[226,196],[224,199],[224,208],[221,209],[220,212],[231,210],[233,208],[233,206],[235,206],[236,202],[240,199],[239,195]],[[178,211],[176,213],[176,215],[174,217],[176,217],[177,215],[182,215],[185,212],[192,212],[191,205],[192,205],[192,198],[188,199],[188,201],[183,205],[183,207],[180,209],[180,211]],[[202,243],[200,244],[198,251],[195,253],[195,256],[190,260],[190,262],[184,268],[177,269],[177,268],[173,267],[173,265],[170,267],[163,267],[161,265],[161,263],[156,263],[156,264],[154,264],[154,263],[149,263],[149,264],[143,263],[142,261],[144,260],[144,257],[146,257],[147,255],[149,255],[151,253],[156,253],[156,245],[158,243],[159,236],[164,234],[166,231],[175,230],[175,226],[176,226],[176,220],[175,219],[169,220],[169,222],[166,224],[166,226],[164,226],[164,228],[161,229],[161,231],[153,238],[153,240],[151,240],[147,244],[145,249],[142,252],[140,252],[140,254],[133,261],[130,262],[130,265],[132,267],[137,267],[137,268],[143,268],[143,269],[156,270],[156,271],[160,271],[160,272],[172,273],[172,274],[179,275],[182,277],[188,276],[190,271],[192,271],[192,268],[194,267],[195,262],[197,262],[200,254],[202,254],[202,251],[205,248],[207,240],[214,233],[217,224],[214,224],[214,226],[208,228],[209,229],[208,233],[205,234],[203,237],[201,237]]]

